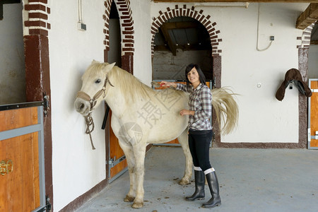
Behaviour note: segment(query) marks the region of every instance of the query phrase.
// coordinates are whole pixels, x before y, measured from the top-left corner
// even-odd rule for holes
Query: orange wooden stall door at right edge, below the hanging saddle
[[[308,148],[318,149],[318,79],[310,79],[310,88],[312,89],[312,96],[309,98],[310,116],[308,118],[310,131],[308,132]]]

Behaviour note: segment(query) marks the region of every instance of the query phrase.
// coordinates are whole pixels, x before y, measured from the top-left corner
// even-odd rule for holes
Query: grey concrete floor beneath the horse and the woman
[[[184,155],[180,147],[154,146],[146,154],[144,206],[123,201],[129,174],[114,180],[77,211],[318,211],[318,151],[306,149],[211,148],[222,205],[201,208],[210,199],[189,202],[194,182],[181,186]]]

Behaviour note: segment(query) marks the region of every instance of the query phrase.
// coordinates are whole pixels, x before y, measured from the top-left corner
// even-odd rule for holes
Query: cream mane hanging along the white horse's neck
[[[114,85],[114,88],[120,89],[127,102],[129,100],[135,102],[140,98],[149,98],[150,95],[155,94],[155,91],[141,83],[138,78],[131,73],[120,69],[118,66],[114,66],[108,73],[110,83]]]

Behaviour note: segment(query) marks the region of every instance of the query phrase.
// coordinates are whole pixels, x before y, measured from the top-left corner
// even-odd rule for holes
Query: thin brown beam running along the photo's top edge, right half
[[[242,0],[153,0],[154,2],[243,2]],[[245,2],[245,1],[244,1]],[[318,3],[318,0],[249,0],[248,2]]]

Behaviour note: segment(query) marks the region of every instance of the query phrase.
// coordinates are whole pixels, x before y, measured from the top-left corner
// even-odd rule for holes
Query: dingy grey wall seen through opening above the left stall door
[[[22,4],[4,4],[0,20],[0,105],[25,102]]]

